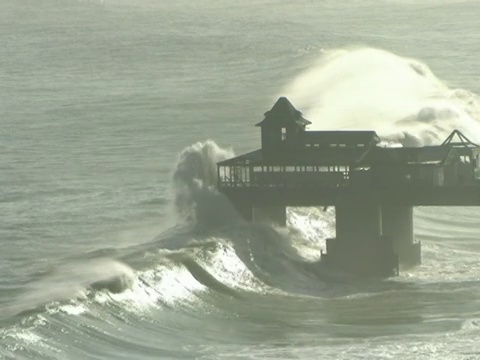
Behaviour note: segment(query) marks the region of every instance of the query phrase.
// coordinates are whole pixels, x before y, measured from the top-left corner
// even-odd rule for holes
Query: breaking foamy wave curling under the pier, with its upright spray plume
[[[290,209],[290,228],[283,230],[243,221],[215,187],[216,163],[232,155],[213,141],[180,153],[172,172],[178,224],[157,238],[60,259],[31,284],[12,289],[16,295],[0,311],[0,320],[10,324],[0,330],[6,349],[23,343],[29,356],[39,357],[59,348],[44,331],[59,318],[67,324],[80,315],[140,321],[147,312],[214,306],[218,297],[318,295],[324,283],[314,264],[322,236],[332,231],[331,212]]]

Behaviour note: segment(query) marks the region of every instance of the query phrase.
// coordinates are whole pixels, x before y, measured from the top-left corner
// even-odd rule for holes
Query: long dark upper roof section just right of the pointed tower
[[[375,131],[305,131],[306,144],[378,144],[380,138]]]

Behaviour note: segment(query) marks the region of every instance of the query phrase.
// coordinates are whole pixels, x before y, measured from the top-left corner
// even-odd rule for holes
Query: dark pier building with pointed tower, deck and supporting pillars
[[[262,148],[218,163],[218,188],[250,221],[283,225],[287,206],[334,206],[328,267],[390,276],[418,265],[414,206],[480,206],[480,147],[457,130],[441,145],[407,148],[309,124],[280,98],[257,124]]]

